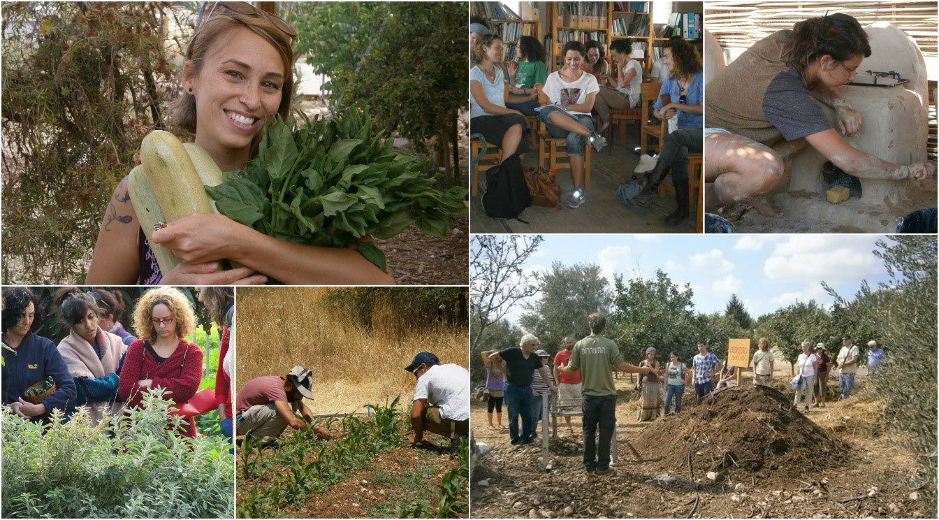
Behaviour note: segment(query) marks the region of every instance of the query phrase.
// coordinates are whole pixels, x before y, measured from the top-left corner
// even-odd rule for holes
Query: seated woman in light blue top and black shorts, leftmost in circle
[[[530,96],[512,96],[509,84],[505,83],[502,73],[502,38],[495,35],[483,35],[473,47],[473,61],[476,66],[469,69],[469,132],[479,132],[485,136],[486,143],[500,145],[499,161],[516,153],[524,154],[529,150],[522,140],[522,133],[528,130],[528,121],[517,110],[506,108],[505,102],[524,102],[534,99]]]

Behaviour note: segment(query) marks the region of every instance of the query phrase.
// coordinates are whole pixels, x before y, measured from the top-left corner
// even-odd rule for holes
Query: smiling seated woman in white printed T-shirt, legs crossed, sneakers
[[[584,199],[584,150],[590,144],[599,151],[607,145],[607,140],[593,130],[590,111],[600,86],[593,74],[580,69],[587,51],[579,41],[568,41],[563,56],[562,69],[551,72],[545,82],[544,94],[552,104],[539,109],[538,118],[546,124],[551,137],[567,139],[574,190],[564,204],[576,208]]]

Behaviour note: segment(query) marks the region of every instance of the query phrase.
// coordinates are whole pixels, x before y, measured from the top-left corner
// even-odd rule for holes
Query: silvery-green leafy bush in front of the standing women
[[[144,407],[96,426],[84,411],[68,422],[55,412],[41,424],[4,407],[3,517],[230,517],[226,439],[167,429],[170,405],[162,391],[150,392]]]

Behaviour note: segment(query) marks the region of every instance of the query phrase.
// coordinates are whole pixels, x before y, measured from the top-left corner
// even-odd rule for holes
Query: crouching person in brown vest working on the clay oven
[[[854,80],[870,53],[861,24],[835,13],[777,31],[721,70],[707,86],[704,176],[714,183],[705,192],[708,211],[744,203],[781,216],[768,194],[782,181],[784,163],[806,145],[852,176],[934,177],[935,162],[894,164],[845,141],[860,129],[861,115],[839,87]],[[834,109],[835,126],[818,103]]]

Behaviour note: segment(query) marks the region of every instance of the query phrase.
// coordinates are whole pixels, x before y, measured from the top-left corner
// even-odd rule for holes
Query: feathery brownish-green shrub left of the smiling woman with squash
[[[164,2],[4,4],[4,281],[84,279],[104,208],[177,93],[164,46],[180,37],[163,27],[191,14]]]

